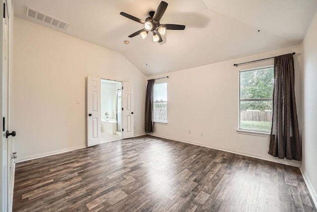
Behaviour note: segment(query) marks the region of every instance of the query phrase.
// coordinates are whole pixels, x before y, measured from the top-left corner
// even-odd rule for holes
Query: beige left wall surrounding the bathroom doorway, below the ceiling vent
[[[87,75],[133,83],[135,135],[144,134],[146,77],[122,55],[20,18],[14,42],[17,161],[85,146]]]

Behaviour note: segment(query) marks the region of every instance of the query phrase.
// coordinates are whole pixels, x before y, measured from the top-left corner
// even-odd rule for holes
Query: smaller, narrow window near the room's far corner
[[[167,82],[154,84],[153,120],[167,123]]]

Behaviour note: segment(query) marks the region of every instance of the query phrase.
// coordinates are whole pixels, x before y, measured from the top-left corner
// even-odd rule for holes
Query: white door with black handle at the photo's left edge
[[[2,1],[3,2],[3,1]],[[3,4],[3,3],[2,3]],[[7,5],[7,4],[6,4]],[[4,8],[4,7],[3,7]],[[5,8],[7,11],[7,7]],[[7,12],[5,12],[5,18],[3,18],[3,10],[0,12],[1,20],[0,20],[0,49],[1,49],[1,74],[0,74],[0,90],[1,90],[1,113],[2,113],[2,137],[1,137],[1,155],[0,155],[0,211],[7,212],[8,211],[8,203],[9,203],[9,153],[8,153],[8,139],[6,136],[6,131],[8,130],[8,18]]]

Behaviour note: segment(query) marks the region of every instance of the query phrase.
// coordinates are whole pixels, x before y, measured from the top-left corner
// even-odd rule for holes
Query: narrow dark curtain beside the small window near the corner
[[[153,132],[153,100],[154,100],[154,79],[148,80],[147,95],[145,98],[145,132]]]

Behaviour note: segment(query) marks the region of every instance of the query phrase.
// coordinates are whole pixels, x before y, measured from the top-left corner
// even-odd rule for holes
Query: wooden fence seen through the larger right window
[[[271,122],[273,111],[271,110],[247,110],[240,112],[241,121],[257,121],[257,122]]]

